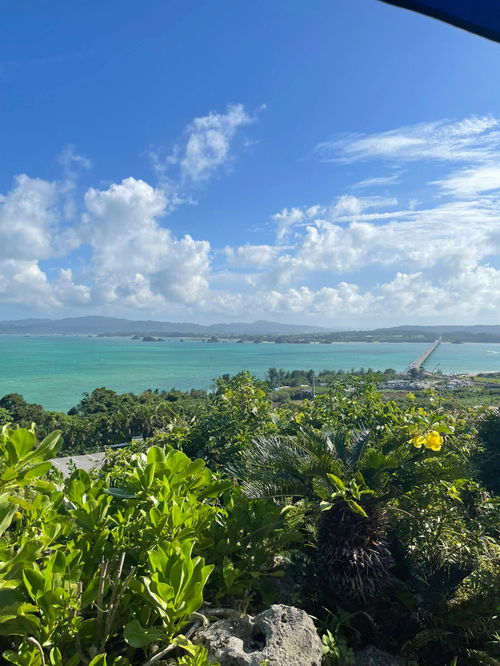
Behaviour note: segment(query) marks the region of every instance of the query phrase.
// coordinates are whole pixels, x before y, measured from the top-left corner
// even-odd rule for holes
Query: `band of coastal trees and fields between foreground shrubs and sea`
[[[316,395],[328,393],[332,386],[348,385],[352,377],[362,378],[364,381],[377,384],[386,399],[396,400],[401,404],[408,403],[408,392],[414,391],[417,404],[425,404],[427,396],[425,391],[417,390],[408,384],[407,375],[398,375],[395,370],[388,368],[383,372],[376,372],[371,368],[350,370],[291,370],[285,371],[270,368],[263,382],[255,381],[249,388],[242,404],[235,408],[233,426],[238,426],[239,420],[245,410],[259,409],[259,400],[253,404],[250,395],[257,389],[260,393],[260,402],[267,404],[271,399],[273,406],[288,406],[312,399]],[[417,382],[432,381],[432,386],[440,396],[445,398],[450,409],[458,406],[475,407],[498,405],[500,403],[500,386],[496,383],[498,377],[491,375],[478,375],[473,381],[463,379],[452,389],[448,386],[448,378],[438,373],[425,375],[421,372],[414,379]],[[387,381],[401,380],[401,387],[385,386]],[[221,396],[232,379],[224,375],[215,381],[214,390],[207,393],[202,390],[192,390],[188,393],[172,389],[170,391],[148,390],[134,395],[133,393],[118,394],[106,388],[97,388],[92,393],[84,394],[82,400],[68,411],[68,413],[45,410],[41,405],[27,403],[17,393],[10,393],[0,399],[0,425],[16,423],[29,428],[31,423],[37,424],[39,436],[45,437],[53,430],[62,433],[61,455],[77,455],[97,450],[106,446],[129,442],[133,438],[151,437],[158,430],[171,431],[171,442],[177,436],[182,437],[186,424],[201,422],[203,428],[209,427],[210,442],[200,441],[190,453],[204,455],[208,446],[221,446],[227,457],[227,447],[231,446],[229,440],[233,437],[228,424],[224,425],[224,433],[218,434],[219,419],[217,410],[220,408]],[[238,384],[238,381],[236,381]],[[423,388],[423,386],[421,387]],[[222,400],[224,403],[225,398]],[[263,401],[263,402],[262,402]],[[197,428],[198,429],[198,428]],[[256,433],[252,430],[251,419],[248,428],[248,437]],[[204,431],[200,431],[203,439]],[[241,437],[241,433],[238,437]],[[192,438],[195,438],[193,434]],[[217,442],[214,442],[214,438]]]

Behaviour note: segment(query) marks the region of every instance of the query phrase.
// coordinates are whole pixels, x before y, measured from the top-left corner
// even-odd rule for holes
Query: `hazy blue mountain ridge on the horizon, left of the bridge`
[[[105,335],[286,335],[319,333],[331,329],[300,324],[280,324],[273,321],[254,321],[250,324],[190,324],[188,322],[133,321],[116,317],[67,317],[65,319],[18,319],[0,321],[0,333],[53,333]]]

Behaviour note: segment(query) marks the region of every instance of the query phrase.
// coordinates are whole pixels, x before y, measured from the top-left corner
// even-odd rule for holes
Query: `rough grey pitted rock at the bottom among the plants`
[[[279,604],[255,617],[214,622],[196,642],[221,666],[320,666],[323,654],[309,615]]]

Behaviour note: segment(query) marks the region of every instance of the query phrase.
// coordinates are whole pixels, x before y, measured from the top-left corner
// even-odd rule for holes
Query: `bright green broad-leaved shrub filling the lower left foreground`
[[[258,556],[252,568],[254,553],[245,557],[239,545],[252,535],[225,528],[231,482],[202,460],[154,446],[108,461],[94,477],[75,470],[64,482],[42,479],[58,440],[54,433],[37,446],[33,430],[4,428],[0,442],[4,660],[123,666],[177,653],[178,663],[208,664],[182,632],[192,630],[214,563],[223,556],[227,592],[243,576],[251,594],[269,559]],[[241,518],[249,502],[238,492],[235,502]],[[256,521],[262,527],[265,516]]]

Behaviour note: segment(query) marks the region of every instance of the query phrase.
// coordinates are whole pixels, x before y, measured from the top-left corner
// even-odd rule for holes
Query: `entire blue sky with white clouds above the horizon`
[[[500,45],[378,0],[0,0],[0,318],[500,324]]]

